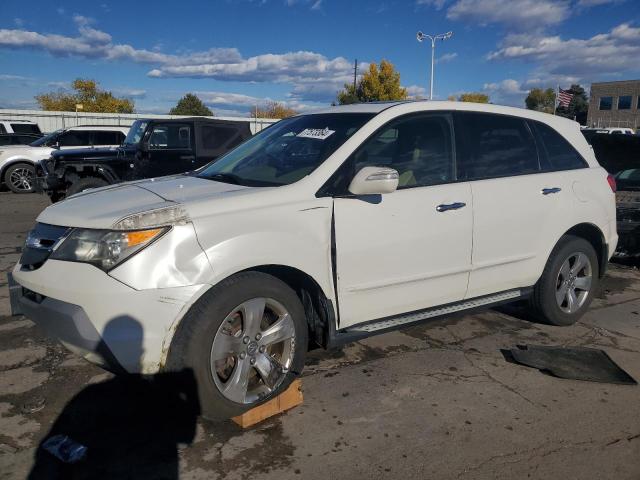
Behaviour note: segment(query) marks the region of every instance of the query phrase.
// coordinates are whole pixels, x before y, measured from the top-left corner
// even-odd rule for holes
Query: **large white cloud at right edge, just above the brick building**
[[[638,73],[640,28],[623,23],[608,33],[588,39],[560,36],[507,37],[489,60],[522,60],[539,63],[543,72],[560,76],[603,76]]]

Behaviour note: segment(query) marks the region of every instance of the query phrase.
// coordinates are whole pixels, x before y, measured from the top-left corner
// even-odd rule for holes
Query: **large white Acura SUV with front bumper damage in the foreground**
[[[108,368],[192,369],[203,412],[225,417],[286,388],[309,342],[523,298],[543,321],[575,322],[616,247],[614,188],[560,117],[336,107],[195,173],[48,207],[13,299]]]

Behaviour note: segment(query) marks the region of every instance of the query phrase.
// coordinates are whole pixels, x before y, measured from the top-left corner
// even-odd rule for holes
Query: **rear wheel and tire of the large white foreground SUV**
[[[573,325],[589,308],[599,273],[591,243],[574,235],[563,236],[534,287],[530,305],[536,318],[550,325]]]

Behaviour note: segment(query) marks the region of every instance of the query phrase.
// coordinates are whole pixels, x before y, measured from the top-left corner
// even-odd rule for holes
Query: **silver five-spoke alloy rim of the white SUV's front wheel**
[[[234,308],[213,340],[213,381],[227,399],[251,404],[275,391],[293,362],[295,324],[271,298],[252,298]]]

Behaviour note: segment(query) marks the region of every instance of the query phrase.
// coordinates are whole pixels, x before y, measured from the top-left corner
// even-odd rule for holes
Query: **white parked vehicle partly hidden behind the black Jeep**
[[[30,145],[0,148],[0,179],[15,193],[34,190],[35,164],[49,158],[54,150],[115,147],[125,139],[129,127],[83,126],[56,130]]]

